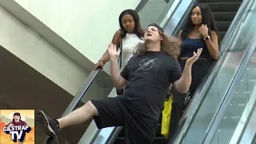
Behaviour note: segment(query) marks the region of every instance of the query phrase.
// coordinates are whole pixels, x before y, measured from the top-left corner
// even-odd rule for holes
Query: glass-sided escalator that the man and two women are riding
[[[239,40],[245,37],[251,39],[254,35],[253,33],[249,37],[248,35],[246,35],[246,33],[241,32],[241,26],[243,26],[243,22],[241,21],[242,18],[245,17],[245,14],[243,14],[243,12],[245,12],[246,10],[240,10],[239,14],[234,18],[234,14],[236,13],[236,10],[238,10],[241,1],[227,0],[228,2],[230,2],[229,4],[231,5],[235,3],[235,5],[233,6],[235,6],[236,9],[234,9],[233,7],[230,11],[225,11],[224,9],[219,8],[226,7],[228,2],[222,2],[219,0],[217,1],[217,3],[214,3],[215,1],[211,2],[210,0],[198,2],[209,2],[207,4],[209,4],[209,6],[213,9],[218,30],[220,30],[220,34],[223,36],[224,34],[226,34],[227,31],[226,37],[224,37],[222,42],[222,58],[218,60],[216,66],[214,67],[214,70],[212,71],[212,74],[210,74],[206,83],[203,82],[204,86],[199,86],[199,89],[195,93],[195,98],[190,102],[190,110],[186,110],[184,116],[182,117],[180,126],[178,127],[177,138],[174,137],[172,139],[172,142],[175,143],[200,143],[203,141],[206,136],[206,130],[208,130],[210,126],[209,123],[212,123],[212,119],[214,118],[214,114],[216,114],[216,111],[218,110],[218,106],[220,106],[223,98],[225,98],[225,95],[228,91],[227,86],[230,86],[231,81],[234,79],[235,72],[238,71],[238,67],[241,64],[242,59],[245,58],[245,51],[249,49],[246,47],[248,45],[247,41],[240,42]],[[177,3],[174,2],[174,6],[182,6],[182,2],[183,1],[179,1]],[[194,1],[192,0],[191,3],[194,3]],[[219,6],[220,3],[222,3],[222,6]],[[246,2],[243,2],[242,6],[247,6],[245,3]],[[188,11],[190,10],[187,10],[186,12]],[[174,15],[175,14],[170,15],[170,17],[173,17]],[[233,18],[234,24],[230,26],[230,22]],[[182,26],[182,24],[184,24],[185,17],[182,19],[179,20],[180,25],[177,25],[175,27],[175,30],[171,31],[170,34],[178,34],[177,32],[181,30],[179,26]],[[171,20],[172,19],[170,18],[170,21]],[[168,25],[164,26],[165,30],[168,29],[167,26]],[[230,30],[227,30],[229,26]],[[248,32],[248,30],[246,32]],[[234,44],[235,41],[238,42]],[[232,44],[237,46],[234,46]],[[230,61],[232,60],[232,58],[234,60],[234,53],[232,53],[232,51],[235,51],[235,54],[239,53],[242,56],[240,57],[240,59],[237,59],[236,63],[232,63],[232,66],[230,66],[231,70],[229,70],[232,74],[230,74],[226,72],[226,65],[230,65]],[[110,76],[105,73],[102,76],[102,73],[103,72],[100,72],[100,70],[92,71],[90,76],[86,79],[84,86],[82,86],[81,89],[78,91],[78,94],[76,94],[73,101],[70,103],[70,106],[64,112],[63,116],[69,114],[71,111],[75,110],[79,106],[82,106],[83,103],[93,98],[94,94],[90,94],[91,89],[97,89],[97,95],[102,95],[102,98],[106,98],[108,96],[115,96],[115,90],[112,89],[113,86],[110,84],[111,82],[108,81],[110,79]],[[97,81],[97,79],[99,82],[95,82]],[[222,84],[222,86],[218,86],[220,84]],[[224,87],[226,89],[224,89]],[[218,97],[215,97],[214,95],[218,95]],[[211,106],[211,110],[207,109],[209,106]],[[161,120],[159,122],[161,122]],[[167,143],[169,140],[162,137],[162,135],[160,134],[160,130],[161,123],[159,123],[158,125],[158,131],[155,134],[156,137],[154,139],[154,143]],[[61,141],[60,143],[98,144],[125,142],[124,132],[122,131],[121,127],[110,127],[107,129],[98,130],[93,121],[83,123],[78,126],[71,126],[68,129],[62,130],[62,135],[58,136],[58,140]]]

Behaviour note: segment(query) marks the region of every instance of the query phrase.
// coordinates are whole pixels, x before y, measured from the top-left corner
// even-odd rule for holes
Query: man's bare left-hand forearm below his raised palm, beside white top
[[[122,78],[118,66],[118,58],[110,58],[110,71],[112,82],[114,83],[114,87],[118,90],[122,89],[127,84],[127,80]]]

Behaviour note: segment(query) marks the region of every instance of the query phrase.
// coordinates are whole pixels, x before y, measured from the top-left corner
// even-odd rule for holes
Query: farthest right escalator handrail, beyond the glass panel
[[[256,50],[256,32],[254,33],[254,39],[252,40],[252,44],[246,47],[246,55],[238,68],[237,74],[234,76],[233,82],[230,85],[230,89],[228,90],[225,98],[222,99],[221,106],[219,106],[217,110],[218,112],[214,114],[214,121],[210,123],[210,129],[207,131],[206,138],[203,142],[204,144],[210,143],[213,140],[214,135],[218,130],[218,126],[222,122],[222,118],[226,114],[226,110],[228,109],[230,102],[234,97],[235,90],[239,86],[239,82],[241,82],[242,75],[246,70],[246,66],[248,66],[250,58],[253,56],[254,50]]]

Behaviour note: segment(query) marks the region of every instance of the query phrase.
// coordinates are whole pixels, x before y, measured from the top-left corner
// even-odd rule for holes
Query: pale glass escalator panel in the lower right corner
[[[255,15],[254,15],[255,17]],[[256,31],[255,31],[256,34]],[[214,117],[214,122],[210,124],[210,129],[206,134],[204,143],[239,143],[243,136],[242,131],[250,118],[251,110],[254,109],[256,102],[256,35],[254,35],[253,46],[247,51],[241,66],[230,86],[218,114]],[[250,143],[242,140],[242,143]]]

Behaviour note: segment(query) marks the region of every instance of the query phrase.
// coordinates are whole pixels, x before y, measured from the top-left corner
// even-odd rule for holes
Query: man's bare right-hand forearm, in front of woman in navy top
[[[179,78],[177,81],[174,82],[174,87],[178,90],[181,94],[186,94],[190,89],[191,84],[191,68],[192,64],[186,63],[182,77]]]

